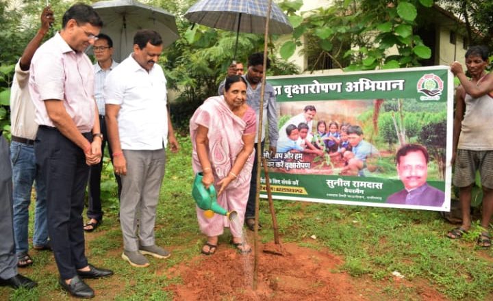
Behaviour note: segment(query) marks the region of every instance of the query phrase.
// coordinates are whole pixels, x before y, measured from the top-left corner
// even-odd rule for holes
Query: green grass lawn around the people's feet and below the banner
[[[115,275],[88,280],[97,291],[97,300],[173,300],[172,293],[165,289],[182,281],[179,274],[172,272],[173,267],[199,254],[203,236],[190,196],[191,145],[188,138],[181,138],[180,142],[181,152],[168,156],[155,228],[157,244],[170,248],[173,255],[165,261],[151,258],[147,269],[136,269],[124,262],[120,257],[123,244],[117,218],[118,201],[114,193],[105,194],[108,201],[103,203],[104,222],[96,232],[86,235],[86,254],[90,263],[108,267]],[[111,187],[111,183],[105,185]],[[479,233],[477,224],[464,239],[453,241],[444,237],[453,226],[431,211],[292,201],[276,201],[275,207],[283,241],[294,241],[308,248],[325,248],[339,255],[344,259],[338,267],[340,272],[390,284],[392,272],[397,271],[407,280],[429,283],[450,300],[493,298],[493,249],[482,250],[475,245]],[[268,226],[268,205],[264,201],[261,220],[264,224],[262,240],[273,240]],[[310,239],[312,235],[316,235],[316,239]],[[34,250],[30,254],[34,265],[20,272],[37,280],[38,287],[32,291],[1,287],[0,299],[68,299],[58,285],[52,255]],[[420,300],[413,289],[404,292],[397,289],[391,285],[385,287],[388,300],[402,293],[407,300]]]

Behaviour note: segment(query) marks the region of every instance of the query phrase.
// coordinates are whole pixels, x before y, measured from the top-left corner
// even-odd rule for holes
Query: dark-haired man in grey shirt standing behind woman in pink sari
[[[270,60],[266,60],[266,69],[270,67]],[[260,112],[260,93],[262,91],[262,75],[264,74],[264,53],[257,52],[249,56],[247,74],[243,75],[247,80],[247,104],[255,110],[257,113],[257,124],[259,120]],[[220,94],[224,92],[224,85],[219,86]],[[266,83],[264,90],[264,116],[262,122],[262,138],[255,138],[255,149],[257,149],[257,143],[260,141],[262,149],[264,148],[264,139],[266,132],[266,123],[268,123],[268,135],[269,135],[269,148],[273,153],[276,152],[277,138],[279,133],[277,131],[277,103],[273,86],[270,83]],[[257,193],[257,156],[253,162],[252,177],[250,181],[250,193],[249,200],[247,202],[247,209],[245,211],[245,224],[253,231],[255,227],[255,194]],[[259,228],[261,228],[259,224]]]

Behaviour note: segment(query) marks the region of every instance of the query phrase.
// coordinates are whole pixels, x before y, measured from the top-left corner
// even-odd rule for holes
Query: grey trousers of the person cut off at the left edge
[[[0,134],[0,278],[17,274],[17,257],[12,224],[12,165],[7,140]]]

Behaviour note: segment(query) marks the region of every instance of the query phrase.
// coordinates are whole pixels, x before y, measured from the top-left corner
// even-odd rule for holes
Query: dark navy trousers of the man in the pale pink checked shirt
[[[90,133],[83,133],[92,141]],[[84,150],[54,127],[40,126],[34,144],[36,164],[47,185],[48,232],[62,279],[86,267],[82,210],[89,174]]]

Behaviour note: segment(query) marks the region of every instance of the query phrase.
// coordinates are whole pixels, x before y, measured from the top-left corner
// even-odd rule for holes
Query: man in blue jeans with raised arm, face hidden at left
[[[34,140],[38,124],[34,122],[34,104],[29,93],[29,66],[31,59],[40,47],[42,39],[55,20],[51,8],[46,7],[41,14],[41,28],[27,44],[21,59],[15,66],[14,80],[10,90],[10,132],[12,143],[12,179],[14,184],[14,237],[18,267],[33,263],[29,256],[28,226],[29,205],[32,185],[36,181],[36,210],[34,214],[33,245],[36,250],[51,250],[48,241],[47,202],[45,179],[36,168]]]

